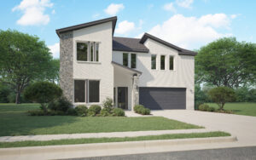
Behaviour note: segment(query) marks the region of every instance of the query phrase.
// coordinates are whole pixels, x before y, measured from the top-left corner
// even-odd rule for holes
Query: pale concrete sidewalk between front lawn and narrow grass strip
[[[61,139],[81,139],[81,138],[102,138],[102,137],[137,137],[159,134],[190,134],[213,132],[211,129],[173,129],[173,130],[150,130],[150,131],[131,131],[131,132],[110,132],[110,133],[90,133],[90,134],[44,134],[44,135],[23,135],[23,136],[3,136],[0,142],[13,142],[23,140],[61,140]]]

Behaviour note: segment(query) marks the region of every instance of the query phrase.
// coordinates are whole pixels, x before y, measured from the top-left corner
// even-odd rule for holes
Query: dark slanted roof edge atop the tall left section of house
[[[115,28],[115,24],[116,24],[116,21],[117,21],[117,16],[110,17],[108,19],[91,21],[91,22],[83,23],[83,24],[76,25],[76,26],[68,26],[68,27],[65,27],[65,28],[57,29],[56,33],[60,37],[61,33],[64,33],[64,32],[67,32],[67,31],[79,30],[79,29],[86,28],[86,27],[89,27],[89,26],[100,25],[100,24],[106,23],[108,21],[112,21],[112,34],[113,34],[114,28]]]

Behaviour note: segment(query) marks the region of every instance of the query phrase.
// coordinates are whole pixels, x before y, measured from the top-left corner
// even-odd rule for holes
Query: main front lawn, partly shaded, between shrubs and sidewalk
[[[139,130],[200,129],[165,117],[27,116],[38,104],[0,104],[0,136],[77,134]]]

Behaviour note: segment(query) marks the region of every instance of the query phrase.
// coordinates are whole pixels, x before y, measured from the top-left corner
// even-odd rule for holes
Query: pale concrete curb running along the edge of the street
[[[236,141],[236,136],[211,137],[211,138],[190,138],[176,140],[143,140],[143,141],[126,141],[111,143],[95,143],[80,145],[62,145],[62,146],[29,146],[16,148],[0,149],[0,157],[22,156],[32,154],[48,154],[70,151],[107,151],[115,149],[147,149],[150,147],[176,146],[176,145],[196,145],[204,143],[220,143]]]

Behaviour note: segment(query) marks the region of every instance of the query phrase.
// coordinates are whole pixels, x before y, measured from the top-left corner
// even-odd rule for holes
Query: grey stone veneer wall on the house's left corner
[[[60,34],[60,86],[73,103],[73,31]]]

